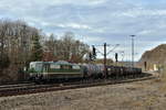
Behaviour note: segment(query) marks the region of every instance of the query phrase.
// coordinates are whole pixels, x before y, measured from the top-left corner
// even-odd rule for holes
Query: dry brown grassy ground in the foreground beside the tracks
[[[0,110],[165,110],[166,82],[156,79],[0,98]]]

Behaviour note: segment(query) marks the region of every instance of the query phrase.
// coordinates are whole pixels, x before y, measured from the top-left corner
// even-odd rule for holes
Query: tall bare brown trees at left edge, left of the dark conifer
[[[32,37],[41,32],[22,21],[0,20],[0,74],[9,80],[29,64]],[[9,65],[10,64],[10,65]],[[8,67],[8,68],[7,68]],[[2,72],[6,74],[2,75]],[[4,79],[3,77],[1,77]]]

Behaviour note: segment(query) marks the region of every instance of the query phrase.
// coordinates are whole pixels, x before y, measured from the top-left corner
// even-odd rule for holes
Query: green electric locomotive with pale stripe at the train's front
[[[82,77],[82,68],[77,64],[71,64],[64,61],[30,63],[29,79],[31,80],[70,79]]]

